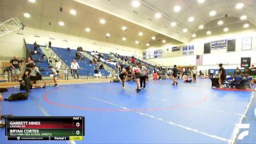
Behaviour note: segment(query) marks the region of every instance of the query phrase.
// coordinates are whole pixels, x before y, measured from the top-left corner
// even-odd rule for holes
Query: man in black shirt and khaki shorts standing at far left
[[[10,61],[12,67],[13,81],[19,81],[21,63],[17,56],[13,56],[13,60]]]

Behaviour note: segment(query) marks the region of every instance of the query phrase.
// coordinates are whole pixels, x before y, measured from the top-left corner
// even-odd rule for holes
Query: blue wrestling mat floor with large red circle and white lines
[[[255,92],[211,88],[210,79],[172,86],[150,81],[136,93],[136,83],[88,83],[35,89],[28,100],[2,102],[3,115],[85,116],[85,136],[76,143],[255,143]],[[19,93],[9,88],[4,98]],[[250,124],[249,135],[236,140],[235,124]],[[243,129],[242,129],[243,130]],[[7,141],[0,143],[72,143]]]

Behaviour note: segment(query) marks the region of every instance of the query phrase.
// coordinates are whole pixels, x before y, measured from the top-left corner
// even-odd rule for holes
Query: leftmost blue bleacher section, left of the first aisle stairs
[[[33,44],[27,44],[27,46],[28,46],[29,52],[34,51]],[[35,61],[36,67],[39,67],[40,69],[45,70],[45,72],[40,72],[42,76],[50,76],[51,70],[48,68],[49,64],[48,64],[47,60],[43,60],[43,58],[42,58],[42,54],[44,54],[44,52],[42,51],[42,49],[40,47],[37,48],[37,52],[40,52],[40,54],[31,55],[32,60],[34,60],[34,61],[41,60],[41,62]]]

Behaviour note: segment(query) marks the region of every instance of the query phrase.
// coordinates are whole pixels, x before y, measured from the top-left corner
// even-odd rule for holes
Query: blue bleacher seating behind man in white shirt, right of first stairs
[[[66,65],[70,67],[71,61],[75,59],[76,56],[76,49],[70,49],[70,51],[67,51],[65,48],[60,47],[51,47],[52,51],[54,51],[58,56],[60,56],[61,60],[63,60]],[[77,63],[80,66],[79,76],[94,76],[94,65],[90,64],[90,59],[84,56],[84,60],[76,60]],[[106,70],[99,69],[100,74],[102,76],[109,76],[109,72]]]

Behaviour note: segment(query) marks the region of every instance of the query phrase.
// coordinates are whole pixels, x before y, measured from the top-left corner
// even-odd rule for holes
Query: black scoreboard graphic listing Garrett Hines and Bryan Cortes
[[[83,140],[84,116],[6,117],[8,140]]]

